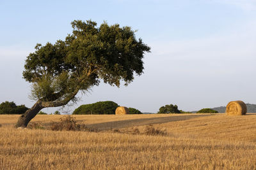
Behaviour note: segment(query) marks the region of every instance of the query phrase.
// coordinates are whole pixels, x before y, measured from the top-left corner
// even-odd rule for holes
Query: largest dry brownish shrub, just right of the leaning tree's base
[[[70,117],[70,115],[66,117],[60,118],[60,122],[52,122],[51,123],[52,131],[89,131],[89,132],[97,132],[97,129],[92,129],[86,127],[84,124],[77,124],[76,118]]]

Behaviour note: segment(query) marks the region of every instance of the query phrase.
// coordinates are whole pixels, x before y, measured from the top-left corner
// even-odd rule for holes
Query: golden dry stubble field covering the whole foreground
[[[13,129],[18,117],[0,115],[0,169],[256,169],[255,114],[75,116],[99,132]],[[148,125],[167,135],[128,134]]]

